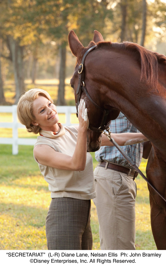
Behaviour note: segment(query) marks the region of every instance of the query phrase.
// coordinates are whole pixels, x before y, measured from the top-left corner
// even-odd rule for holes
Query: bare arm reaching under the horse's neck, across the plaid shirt
[[[120,145],[131,145],[135,143],[141,143],[147,141],[148,138],[145,137],[142,133],[121,133],[121,134],[112,134],[111,137]],[[114,146],[112,142],[108,140],[106,135],[101,137],[101,146]]]

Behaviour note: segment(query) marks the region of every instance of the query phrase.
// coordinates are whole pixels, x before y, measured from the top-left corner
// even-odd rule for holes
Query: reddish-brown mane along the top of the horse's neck
[[[94,41],[90,43],[94,44]],[[134,53],[135,57],[141,64],[141,80],[144,80],[146,84],[150,84],[153,88],[156,88],[158,81],[158,64],[166,65],[166,56],[147,50],[146,48],[133,43],[112,43],[112,42],[98,42],[96,43],[98,49],[117,49],[126,50],[130,53]]]

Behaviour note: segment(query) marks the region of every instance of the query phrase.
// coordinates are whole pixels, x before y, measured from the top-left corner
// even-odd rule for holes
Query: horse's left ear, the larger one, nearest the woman
[[[79,50],[84,48],[84,46],[81,44],[78,37],[76,36],[75,32],[72,30],[68,34],[68,44],[69,44],[69,47],[70,47],[72,53],[76,57],[77,57]]]

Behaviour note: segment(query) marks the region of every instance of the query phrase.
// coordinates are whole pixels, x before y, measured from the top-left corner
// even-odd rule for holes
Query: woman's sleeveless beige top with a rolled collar
[[[55,151],[73,156],[76,147],[78,130],[72,126],[59,124],[60,131],[56,132],[40,130],[36,145],[44,144]],[[35,147],[34,146],[34,147]],[[93,163],[90,153],[87,153],[86,167],[84,171],[61,170],[46,165],[39,165],[41,174],[49,184],[51,197],[72,197],[82,200],[90,200],[96,197],[93,178]]]

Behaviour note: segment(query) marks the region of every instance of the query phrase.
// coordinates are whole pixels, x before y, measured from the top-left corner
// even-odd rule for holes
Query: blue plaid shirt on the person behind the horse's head
[[[139,133],[139,131],[133,126],[133,124],[122,114],[111,121],[110,129],[112,133]],[[132,145],[121,146],[126,154],[133,160],[133,162],[139,167],[143,153],[143,143],[137,143]],[[127,160],[122,156],[115,146],[101,146],[100,149],[95,152],[95,159],[97,161],[110,161],[115,164],[123,165],[125,167],[131,167]]]

